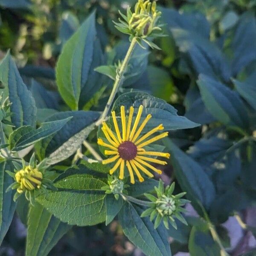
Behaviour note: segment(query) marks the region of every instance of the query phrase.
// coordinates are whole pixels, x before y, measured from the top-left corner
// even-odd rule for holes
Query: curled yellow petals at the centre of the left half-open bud
[[[18,193],[23,193],[26,190],[34,190],[35,188],[41,187],[41,180],[43,175],[36,168],[32,168],[31,166],[26,166],[23,170],[16,172],[15,180],[20,186],[17,188]]]

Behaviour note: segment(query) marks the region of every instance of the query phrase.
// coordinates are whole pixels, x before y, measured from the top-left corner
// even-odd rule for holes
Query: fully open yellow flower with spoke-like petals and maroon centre
[[[118,167],[120,167],[119,179],[122,180],[124,178],[124,170],[126,165],[130,174],[131,183],[133,184],[135,183],[134,172],[137,175],[140,182],[144,181],[143,177],[140,174],[140,171],[144,172],[146,175],[148,175],[148,177],[154,177],[154,175],[152,175],[151,172],[149,172],[145,167],[151,169],[154,172],[157,172],[158,174],[162,173],[161,170],[155,168],[148,162],[158,163],[161,165],[167,164],[165,161],[158,160],[148,156],[159,156],[166,158],[170,157],[169,153],[145,151],[144,147],[146,145],[149,145],[157,140],[160,140],[161,138],[168,136],[168,132],[164,132],[160,135],[149,138],[155,132],[164,129],[163,125],[161,124],[153,128],[151,131],[148,131],[146,134],[141,135],[143,128],[147,124],[148,120],[152,117],[150,114],[148,114],[141,123],[141,125],[139,126],[142,112],[143,106],[140,105],[134,124],[132,125],[134,108],[130,108],[127,122],[125,116],[125,107],[121,106],[121,134],[116,120],[116,113],[115,111],[112,111],[111,113],[113,117],[113,124],[115,127],[116,134],[114,134],[113,131],[111,131],[106,122],[103,122],[102,131],[105,134],[105,137],[108,140],[109,144],[105,143],[102,139],[98,139],[99,145],[108,148],[108,150],[105,150],[105,155],[114,155],[113,157],[102,161],[103,164],[113,163],[116,161],[113,168],[110,169],[110,174],[112,175],[118,169]]]

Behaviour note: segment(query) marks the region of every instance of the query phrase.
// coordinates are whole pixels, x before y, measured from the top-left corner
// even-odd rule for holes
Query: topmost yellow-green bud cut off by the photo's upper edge
[[[154,48],[155,45],[146,40],[146,38],[162,36],[162,34],[159,33],[162,29],[157,24],[161,12],[157,11],[156,2],[151,3],[149,0],[138,0],[134,12],[131,11],[131,8],[128,8],[126,15],[121,12],[120,15],[123,20],[119,19],[120,23],[114,22],[116,29],[130,35],[131,38],[136,37],[138,39],[137,41],[142,39],[149,46]]]

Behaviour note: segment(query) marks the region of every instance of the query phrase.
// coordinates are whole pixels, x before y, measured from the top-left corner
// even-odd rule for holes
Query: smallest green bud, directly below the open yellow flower
[[[125,184],[125,180],[120,180],[115,176],[108,175],[108,185],[103,186],[101,189],[105,190],[106,194],[114,194],[116,200],[118,200],[119,195],[126,193],[129,185]]]

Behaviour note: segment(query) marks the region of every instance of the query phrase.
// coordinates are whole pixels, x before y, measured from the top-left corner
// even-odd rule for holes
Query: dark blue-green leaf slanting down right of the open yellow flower
[[[200,212],[197,202],[209,209],[215,198],[215,187],[202,167],[191,157],[180,150],[169,138],[163,140],[166,148],[170,150],[172,165],[175,176],[187,198],[192,201],[193,206]]]

